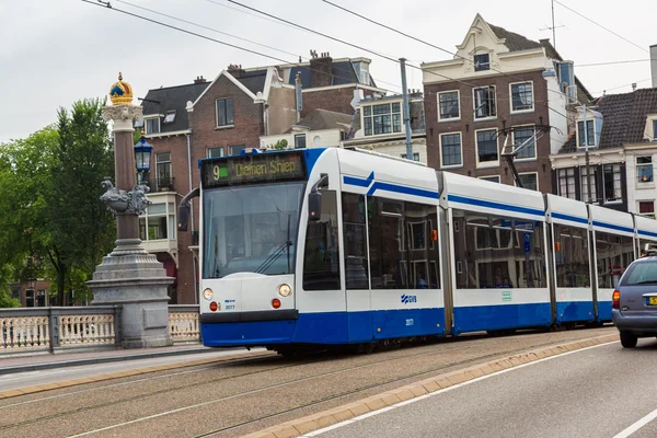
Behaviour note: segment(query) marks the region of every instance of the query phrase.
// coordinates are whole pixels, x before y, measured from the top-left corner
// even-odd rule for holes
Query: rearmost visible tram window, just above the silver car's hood
[[[596,265],[598,287],[612,289],[634,260],[634,242],[631,237],[596,231]]]

